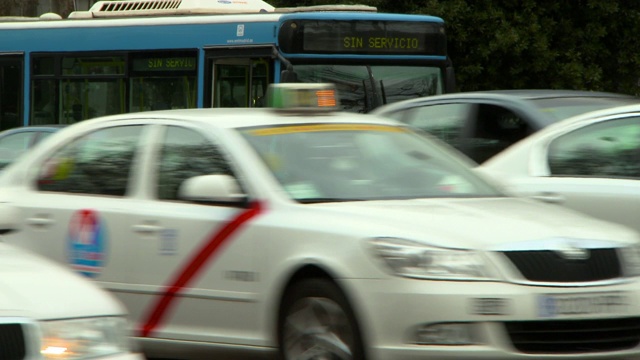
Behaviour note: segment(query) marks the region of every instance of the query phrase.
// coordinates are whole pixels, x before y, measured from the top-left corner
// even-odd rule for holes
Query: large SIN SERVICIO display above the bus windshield
[[[278,40],[286,53],[446,56],[438,23],[297,20],[283,24]]]

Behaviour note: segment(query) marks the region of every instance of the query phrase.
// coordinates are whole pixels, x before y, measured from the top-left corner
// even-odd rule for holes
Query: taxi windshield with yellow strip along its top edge
[[[405,127],[304,124],[241,133],[300,202],[501,195],[464,162]]]

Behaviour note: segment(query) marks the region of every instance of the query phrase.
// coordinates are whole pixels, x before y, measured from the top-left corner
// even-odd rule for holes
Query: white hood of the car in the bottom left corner
[[[122,314],[112,295],[80,275],[0,243],[0,316],[53,320]]]

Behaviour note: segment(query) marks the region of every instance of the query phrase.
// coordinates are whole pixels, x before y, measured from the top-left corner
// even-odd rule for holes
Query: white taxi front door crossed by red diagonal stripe
[[[139,330],[150,338],[256,345],[257,254],[261,235],[248,224],[251,207],[182,201],[181,183],[193,176],[235,177],[226,152],[196,127],[155,128],[145,180],[122,229],[137,251],[123,294]],[[235,227],[229,227],[235,226]]]

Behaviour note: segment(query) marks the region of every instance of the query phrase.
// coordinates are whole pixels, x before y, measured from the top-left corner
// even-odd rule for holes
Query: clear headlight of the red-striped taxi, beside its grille
[[[370,239],[373,254],[394,275],[436,280],[489,280],[491,271],[482,254],[395,239]]]

